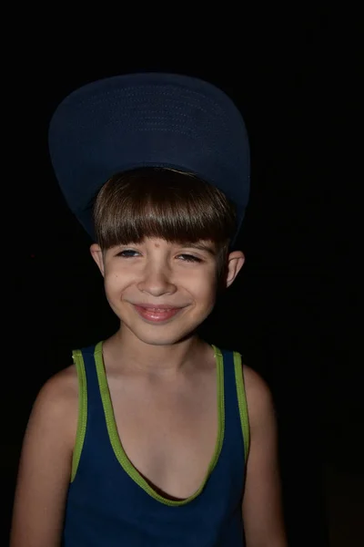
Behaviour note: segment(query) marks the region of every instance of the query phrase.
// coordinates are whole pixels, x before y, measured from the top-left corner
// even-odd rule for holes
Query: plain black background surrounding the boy
[[[320,5],[297,13],[262,6],[254,15],[226,9],[226,22],[217,12],[214,25],[206,14],[192,26],[186,8],[173,10],[156,22],[147,12],[142,19],[104,13],[96,22],[94,11],[91,24],[89,14],[75,21],[55,5],[54,13],[39,19],[33,12],[28,22],[23,14],[14,26],[4,86],[10,253],[4,251],[3,287],[11,310],[3,364],[4,530],[39,387],[70,363],[72,348],[116,328],[90,242],[56,185],[49,119],[88,81],[160,70],[215,83],[246,120],[252,188],[240,243],[247,262],[203,332],[217,346],[238,349],[267,379],[278,412],[289,545],[323,546],[336,535],[330,496],[338,476],[344,487],[349,476],[362,481],[356,15]],[[340,500],[340,518],[349,521],[345,496]],[[354,545],[357,525],[343,546]]]

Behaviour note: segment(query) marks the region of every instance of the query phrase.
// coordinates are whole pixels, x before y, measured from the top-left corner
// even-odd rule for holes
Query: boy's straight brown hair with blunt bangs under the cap
[[[177,243],[209,240],[224,262],[236,212],[222,191],[192,173],[144,167],[106,182],[96,196],[94,221],[102,249],[140,243],[145,237]]]

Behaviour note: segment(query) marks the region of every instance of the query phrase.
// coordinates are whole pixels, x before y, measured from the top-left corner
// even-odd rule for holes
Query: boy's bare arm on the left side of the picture
[[[61,545],[77,398],[74,366],[48,380],[36,397],[18,470],[10,547]]]

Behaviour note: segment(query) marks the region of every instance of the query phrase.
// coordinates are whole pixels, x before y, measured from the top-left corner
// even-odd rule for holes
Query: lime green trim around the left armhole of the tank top
[[[84,357],[79,349],[72,352],[78,377],[78,421],[76,430],[76,443],[72,458],[71,482],[76,478],[78,463],[84,446],[87,423],[87,384]]]

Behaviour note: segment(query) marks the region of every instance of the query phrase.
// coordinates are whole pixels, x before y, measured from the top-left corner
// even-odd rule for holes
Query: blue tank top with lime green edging
[[[206,479],[171,501],[127,459],[117,435],[102,343],[74,352],[79,416],[64,547],[242,547],[248,413],[241,358],[214,346],[218,435]]]

